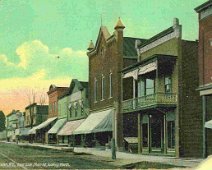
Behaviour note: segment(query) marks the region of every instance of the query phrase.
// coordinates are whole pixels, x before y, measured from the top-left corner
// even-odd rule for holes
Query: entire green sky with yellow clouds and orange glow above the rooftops
[[[198,39],[194,8],[206,0],[0,0],[0,110],[24,111],[33,90],[39,103],[51,84],[88,80],[86,49],[99,28],[150,38],[179,18],[183,38]],[[58,57],[59,56],[59,57]],[[48,103],[48,100],[46,100]]]

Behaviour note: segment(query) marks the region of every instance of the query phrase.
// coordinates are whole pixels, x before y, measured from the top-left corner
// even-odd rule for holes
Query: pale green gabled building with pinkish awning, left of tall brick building
[[[82,135],[74,135],[73,132],[87,118],[88,107],[88,82],[72,79],[69,91],[58,102],[59,115],[66,118],[67,122],[57,134],[60,143],[69,145],[83,145]]]

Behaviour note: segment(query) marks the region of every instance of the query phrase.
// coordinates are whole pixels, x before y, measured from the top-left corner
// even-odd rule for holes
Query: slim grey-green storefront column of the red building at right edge
[[[203,158],[206,157],[206,130],[205,130],[205,120],[206,120],[206,97],[202,96],[202,149],[203,153],[202,156]]]

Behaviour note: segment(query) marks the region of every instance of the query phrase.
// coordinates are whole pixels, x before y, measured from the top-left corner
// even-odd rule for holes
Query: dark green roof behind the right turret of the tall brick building
[[[145,39],[124,37],[123,42],[123,57],[137,59],[137,51],[135,47],[136,40],[140,40],[141,44],[145,43]]]

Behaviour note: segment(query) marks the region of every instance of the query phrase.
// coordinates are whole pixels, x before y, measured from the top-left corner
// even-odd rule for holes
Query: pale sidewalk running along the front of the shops
[[[5,142],[10,144],[16,144],[14,142]],[[35,148],[46,148],[46,149],[54,149],[54,150],[61,150],[67,152],[75,152],[75,153],[87,153],[96,156],[101,156],[110,160],[108,163],[123,166],[128,165],[136,162],[157,162],[157,163],[164,163],[164,164],[171,164],[176,166],[184,166],[188,168],[195,168],[197,167],[203,159],[194,159],[194,158],[175,158],[175,157],[168,157],[168,156],[152,156],[152,155],[138,155],[126,152],[116,152],[116,160],[112,160],[111,150],[102,150],[98,148],[83,148],[83,147],[65,147],[65,146],[53,146],[47,144],[40,144],[40,143],[18,143],[19,146],[29,146]]]

